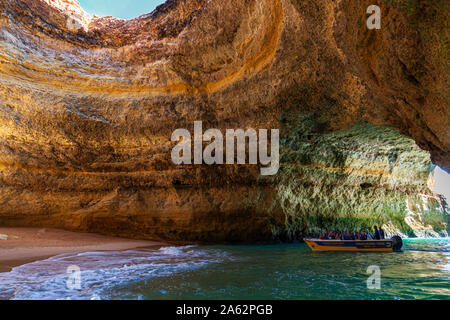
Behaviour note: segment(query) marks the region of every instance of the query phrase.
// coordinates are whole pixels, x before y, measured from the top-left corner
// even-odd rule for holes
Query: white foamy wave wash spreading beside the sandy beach
[[[0,299],[108,299],[114,288],[203,268],[226,258],[222,251],[195,246],[63,254],[0,273]],[[74,265],[81,270],[80,290],[67,287],[67,268]]]

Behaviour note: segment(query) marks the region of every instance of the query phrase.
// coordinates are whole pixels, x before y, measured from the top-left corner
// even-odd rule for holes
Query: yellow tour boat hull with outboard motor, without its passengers
[[[365,251],[393,252],[400,251],[403,242],[400,237],[390,240],[322,240],[305,239],[312,251]]]

